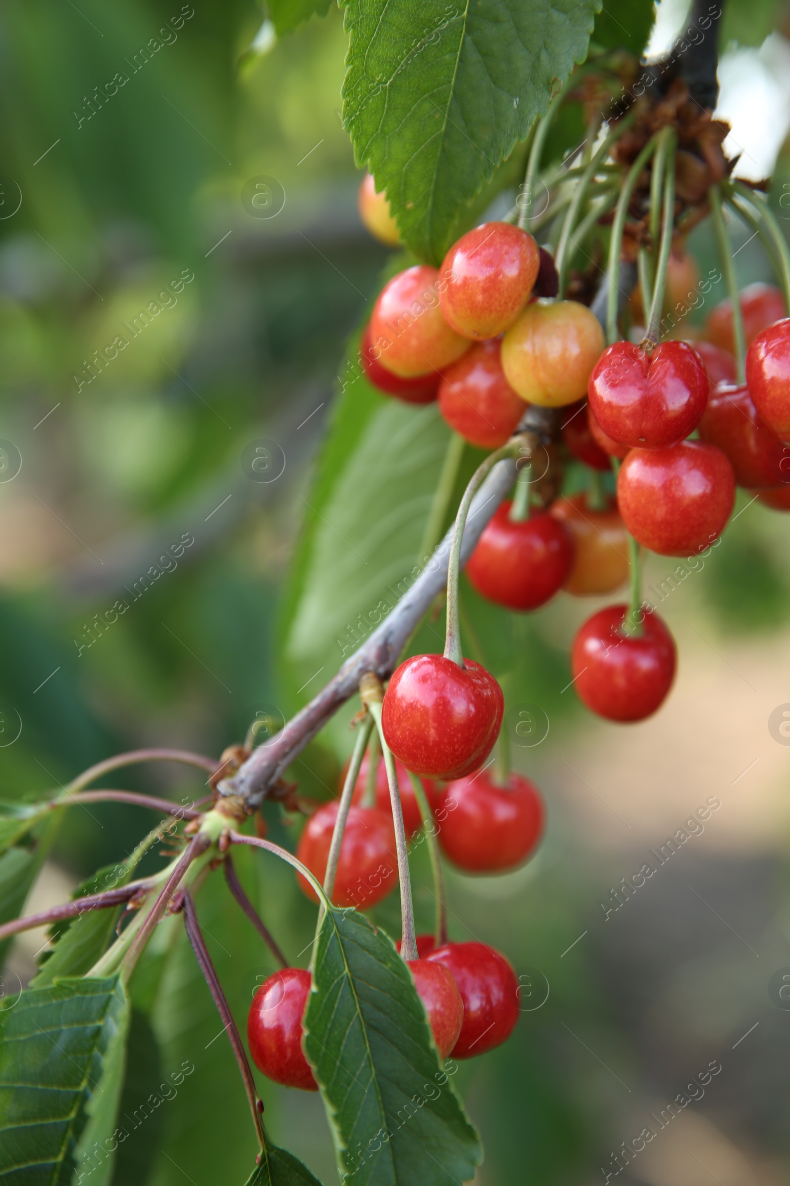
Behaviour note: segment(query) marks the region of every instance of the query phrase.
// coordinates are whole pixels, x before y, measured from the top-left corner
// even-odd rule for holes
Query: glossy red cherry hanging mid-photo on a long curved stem
[[[381,725],[396,758],[416,774],[461,778],[492,752],[502,726],[502,689],[473,659],[416,655],[396,670]]]

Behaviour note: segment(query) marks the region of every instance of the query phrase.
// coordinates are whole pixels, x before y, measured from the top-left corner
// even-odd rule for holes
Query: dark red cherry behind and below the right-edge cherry
[[[726,383],[717,388],[699,428],[701,440],[718,445],[730,458],[739,486],[776,486],[790,478],[785,446],[758,415],[749,388]]]

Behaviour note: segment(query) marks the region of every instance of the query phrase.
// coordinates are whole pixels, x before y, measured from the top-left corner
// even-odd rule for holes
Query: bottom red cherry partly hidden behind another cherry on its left
[[[519,1020],[519,982],[510,963],[484,943],[445,943],[429,955],[452,973],[463,1001],[454,1058],[474,1058],[501,1046]]]

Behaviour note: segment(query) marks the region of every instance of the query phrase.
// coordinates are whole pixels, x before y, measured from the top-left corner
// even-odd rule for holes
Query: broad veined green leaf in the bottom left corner
[[[27,989],[0,1013],[4,1186],[68,1186],[83,1134],[102,1141],[91,1168],[110,1161],[127,1021],[117,976]]]

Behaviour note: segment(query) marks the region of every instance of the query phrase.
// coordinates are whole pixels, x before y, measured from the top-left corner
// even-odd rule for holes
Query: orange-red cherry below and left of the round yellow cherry
[[[471,445],[499,448],[513,435],[525,413],[500,363],[500,343],[480,342],[439,383],[439,412]]]

